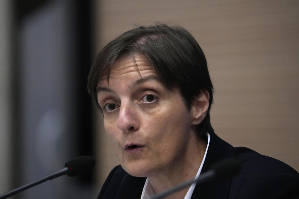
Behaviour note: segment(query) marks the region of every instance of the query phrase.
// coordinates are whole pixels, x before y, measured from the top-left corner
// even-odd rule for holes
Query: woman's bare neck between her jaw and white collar
[[[180,158],[174,160],[167,170],[149,176],[149,182],[154,191],[159,193],[179,183],[194,179],[206,152],[207,142],[194,135],[190,138],[187,148]],[[189,187],[173,193],[165,198],[184,198]]]

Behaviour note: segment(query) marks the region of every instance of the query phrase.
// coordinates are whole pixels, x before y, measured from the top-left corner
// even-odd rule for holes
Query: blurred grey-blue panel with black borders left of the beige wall
[[[14,1],[13,150],[18,187],[93,156],[90,1]],[[20,169],[21,168],[21,169]],[[13,198],[92,196],[93,172],[63,176]]]

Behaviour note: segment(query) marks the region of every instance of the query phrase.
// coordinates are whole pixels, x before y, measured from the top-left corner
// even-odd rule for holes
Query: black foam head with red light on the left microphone
[[[69,168],[68,176],[77,176],[90,171],[96,161],[91,156],[79,156],[76,157],[74,160],[70,160],[64,164],[65,167]]]

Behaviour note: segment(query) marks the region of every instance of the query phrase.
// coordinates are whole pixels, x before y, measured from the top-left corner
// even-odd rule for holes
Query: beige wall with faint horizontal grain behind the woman
[[[94,9],[94,57],[134,24],[175,22],[187,28],[206,54],[216,90],[216,134],[299,171],[299,1],[102,0]],[[101,124],[98,190],[118,164]]]

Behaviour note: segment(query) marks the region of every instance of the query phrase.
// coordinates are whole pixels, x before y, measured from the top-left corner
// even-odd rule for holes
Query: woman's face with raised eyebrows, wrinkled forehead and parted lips
[[[121,166],[149,177],[185,159],[192,116],[178,89],[165,87],[142,55],[135,62],[130,56],[116,61],[109,83],[99,80],[97,99]]]

